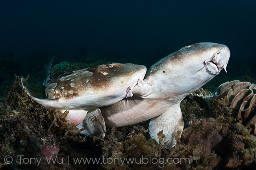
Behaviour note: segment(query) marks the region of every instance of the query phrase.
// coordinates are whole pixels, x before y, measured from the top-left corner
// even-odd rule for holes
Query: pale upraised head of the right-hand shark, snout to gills
[[[226,71],[229,57],[230,50],[222,44],[206,42],[183,47],[154,64],[143,82],[134,88],[134,94],[180,102],[222,69]]]

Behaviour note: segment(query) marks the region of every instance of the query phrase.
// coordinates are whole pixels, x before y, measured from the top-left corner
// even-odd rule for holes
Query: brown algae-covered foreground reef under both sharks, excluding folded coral
[[[35,87],[37,88],[37,87]],[[232,88],[234,90],[234,86]],[[250,88],[248,88],[250,90]],[[254,89],[254,88],[252,88]],[[252,90],[253,91],[253,90]],[[234,93],[234,92],[233,92]],[[192,96],[181,103],[186,127],[170,150],[158,133],[151,139],[148,122],[106,130],[105,138],[86,138],[71,128],[58,110],[33,102],[20,85],[20,78],[0,102],[0,168],[3,169],[99,169],[99,170],[212,170],[256,168],[256,137],[236,119],[227,96],[215,99]],[[234,99],[233,99],[234,100]],[[238,103],[238,102],[237,102]],[[249,102],[250,103],[250,102]],[[211,114],[210,114],[211,113]],[[250,112],[252,113],[252,112]],[[67,112],[65,113],[67,115]],[[213,117],[209,117],[212,116]],[[208,117],[208,118],[205,118]],[[65,126],[61,126],[65,124]],[[242,122],[243,123],[243,122]],[[79,141],[80,143],[76,143]],[[78,146],[81,145],[81,146]],[[98,146],[96,146],[98,145]],[[100,152],[96,153],[96,151]],[[7,165],[4,157],[14,162]],[[24,157],[20,157],[24,155]],[[42,159],[26,164],[27,159]],[[100,163],[74,163],[71,159],[95,157]],[[57,159],[58,162],[53,163]],[[48,161],[50,161],[48,163]],[[68,164],[69,162],[69,164]]]

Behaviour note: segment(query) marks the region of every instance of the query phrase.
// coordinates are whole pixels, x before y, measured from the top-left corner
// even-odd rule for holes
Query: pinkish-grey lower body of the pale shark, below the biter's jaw
[[[146,121],[164,113],[165,101],[134,99],[130,97],[114,105],[100,108],[107,127],[122,127]],[[125,104],[125,107],[124,107]]]

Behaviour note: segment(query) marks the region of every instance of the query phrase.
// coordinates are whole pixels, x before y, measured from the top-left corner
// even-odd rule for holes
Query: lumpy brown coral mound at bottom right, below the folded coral
[[[224,124],[222,121],[208,118],[202,119],[196,126],[184,129],[182,141],[196,148],[200,159],[215,154],[218,159],[216,166],[223,168],[237,168],[256,163],[256,137],[250,135],[250,130],[243,125]]]

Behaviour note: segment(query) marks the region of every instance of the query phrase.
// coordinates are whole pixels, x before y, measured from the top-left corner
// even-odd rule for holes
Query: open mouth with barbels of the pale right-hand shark
[[[226,66],[228,61],[223,63],[223,60],[221,59],[221,50],[218,50],[213,54],[212,58],[208,58],[204,61],[204,65],[212,74],[219,74],[222,69],[224,69],[227,73]]]

